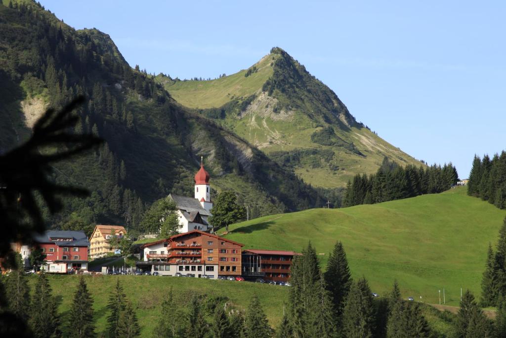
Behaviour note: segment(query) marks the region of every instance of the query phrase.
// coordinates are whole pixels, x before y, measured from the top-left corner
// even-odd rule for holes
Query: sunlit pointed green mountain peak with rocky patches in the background
[[[184,106],[215,119],[304,181],[342,187],[385,157],[423,165],[357,123],[343,102],[280,48],[247,70],[209,81],[155,80]]]

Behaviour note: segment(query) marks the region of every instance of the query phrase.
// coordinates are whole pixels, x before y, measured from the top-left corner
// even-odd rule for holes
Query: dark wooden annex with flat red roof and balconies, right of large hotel
[[[263,278],[267,281],[287,282],[293,256],[300,253],[279,250],[242,251],[242,276],[246,278]]]

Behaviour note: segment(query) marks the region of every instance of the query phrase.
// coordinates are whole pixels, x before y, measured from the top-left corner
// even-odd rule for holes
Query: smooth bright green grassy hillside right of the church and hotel
[[[234,224],[226,237],[245,248],[300,251],[308,241],[325,266],[342,241],[355,278],[386,294],[394,279],[404,297],[458,305],[460,287],[480,295],[488,243],[495,243],[504,211],[466,195],[439,195],[343,209],[312,209]]]

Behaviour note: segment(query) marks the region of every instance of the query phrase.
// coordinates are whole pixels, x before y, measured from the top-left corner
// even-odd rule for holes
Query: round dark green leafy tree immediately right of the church
[[[211,209],[212,216],[209,217],[209,223],[216,231],[225,227],[228,232],[228,226],[235,223],[246,216],[243,206],[237,204],[237,196],[232,191],[223,191],[218,194]]]

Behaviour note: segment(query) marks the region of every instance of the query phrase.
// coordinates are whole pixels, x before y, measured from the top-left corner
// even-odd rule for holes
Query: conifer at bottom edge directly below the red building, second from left
[[[33,290],[30,309],[30,326],[34,337],[47,338],[61,335],[58,308],[51,292],[46,274],[41,273]]]

